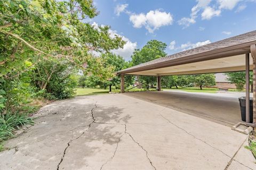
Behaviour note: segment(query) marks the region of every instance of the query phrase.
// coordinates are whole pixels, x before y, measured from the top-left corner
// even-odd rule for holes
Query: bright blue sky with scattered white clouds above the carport
[[[113,52],[130,60],[135,48],[156,39],[166,53],[213,43],[256,30],[256,0],[94,0],[100,14],[91,23],[111,26],[123,36],[124,49]]]

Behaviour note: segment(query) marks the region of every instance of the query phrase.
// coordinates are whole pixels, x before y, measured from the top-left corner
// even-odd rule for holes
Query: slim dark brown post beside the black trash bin
[[[249,53],[245,54],[245,92],[246,92],[246,103],[245,103],[245,115],[246,123],[250,123],[250,60]]]

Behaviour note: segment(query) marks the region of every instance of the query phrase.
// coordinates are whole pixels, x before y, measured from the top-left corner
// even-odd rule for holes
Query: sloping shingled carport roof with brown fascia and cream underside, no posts
[[[250,53],[250,46],[253,44],[256,44],[256,30],[135,65],[128,69],[118,71],[117,74],[178,75],[189,73],[240,71],[244,69],[245,65],[244,62],[240,65],[238,64],[242,62],[241,55]],[[225,64],[218,64],[222,62],[218,61],[218,58],[224,57],[228,57],[225,61],[226,67]],[[209,62],[203,63],[204,61],[209,60],[212,60],[213,64],[215,62],[215,67],[211,66],[208,68],[206,65],[209,65]],[[233,63],[233,61],[236,61],[236,63]],[[196,63],[197,65],[192,66],[191,64],[189,65],[189,63]],[[175,66],[178,65],[184,65],[182,71],[177,71],[179,68]]]

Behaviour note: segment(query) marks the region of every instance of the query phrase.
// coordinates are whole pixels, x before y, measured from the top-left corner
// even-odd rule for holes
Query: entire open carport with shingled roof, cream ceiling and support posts
[[[161,76],[246,71],[246,125],[256,127],[256,30],[223,39],[215,43],[158,58],[128,69],[121,74],[121,92],[124,93],[125,74],[157,77],[161,91]],[[253,70],[253,123],[250,123],[250,81]]]

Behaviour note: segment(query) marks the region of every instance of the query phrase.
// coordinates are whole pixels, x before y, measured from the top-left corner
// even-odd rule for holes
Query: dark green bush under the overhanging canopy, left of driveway
[[[46,92],[50,99],[65,99],[75,94],[77,80],[73,76],[74,65],[67,61],[44,60],[33,68],[31,82]]]

